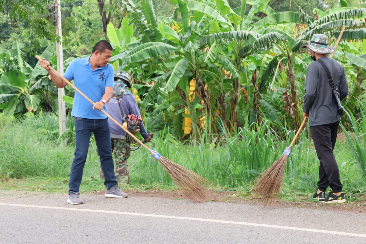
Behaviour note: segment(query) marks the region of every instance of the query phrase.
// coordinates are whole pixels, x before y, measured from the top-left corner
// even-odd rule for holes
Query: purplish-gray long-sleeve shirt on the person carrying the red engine
[[[119,104],[121,106],[123,116],[124,115],[138,115],[141,118],[141,114],[140,114],[140,110],[137,106],[137,102],[135,100],[135,97],[131,93],[124,95],[122,98],[120,98]],[[109,100],[109,102],[105,106],[107,107],[108,114],[113,119],[117,120],[118,123],[123,124],[121,110],[118,107],[117,98],[112,97],[111,100]],[[111,134],[121,135],[121,136],[126,135],[126,132],[124,132],[124,130],[121,129],[112,120],[109,120],[109,125],[111,126]],[[147,134],[143,123],[140,128],[140,134],[142,135],[143,139],[146,139],[149,137],[149,134]]]

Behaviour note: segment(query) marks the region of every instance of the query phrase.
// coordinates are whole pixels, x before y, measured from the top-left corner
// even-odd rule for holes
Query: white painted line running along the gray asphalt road
[[[107,214],[124,214],[124,215],[135,215],[135,216],[145,216],[145,217],[169,218],[169,219],[187,219],[187,220],[194,220],[194,221],[206,221],[206,222],[216,222],[216,223],[234,224],[234,225],[250,225],[250,226],[277,228],[277,229],[320,232],[320,233],[337,234],[337,235],[344,235],[344,236],[366,237],[366,234],[347,233],[347,232],[338,232],[338,231],[330,231],[330,230],[306,229],[306,228],[281,226],[281,225],[255,224],[255,223],[247,223],[247,222],[226,221],[226,220],[219,220],[219,219],[190,218],[190,217],[179,217],[179,216],[158,215],[158,214],[140,214],[140,213],[129,213],[129,212],[97,210],[97,209],[73,209],[70,207],[50,207],[50,206],[12,204],[12,203],[0,203],[0,205],[15,206],[15,207],[34,207],[34,208],[39,208],[39,209],[60,209],[60,210],[71,210],[71,211],[96,212],[96,213],[107,213]]]

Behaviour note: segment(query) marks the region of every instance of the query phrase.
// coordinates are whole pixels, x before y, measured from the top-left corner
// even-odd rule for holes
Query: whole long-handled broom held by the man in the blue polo
[[[40,61],[42,59],[36,55],[36,58]],[[65,79],[62,75],[60,75],[54,68],[49,65],[51,70],[55,72],[61,79],[64,80],[68,85],[70,85],[75,91],[80,93],[83,97],[86,98],[91,104],[94,105],[94,102],[91,101],[86,95],[84,95],[79,89],[77,89],[74,85],[72,85],[67,79]],[[206,191],[204,186],[209,184],[209,181],[199,176],[198,174],[192,172],[184,168],[183,166],[176,164],[175,162],[170,161],[169,159],[161,156],[156,151],[151,150],[145,144],[143,144],[139,139],[137,139],[130,131],[124,128],[120,123],[118,123],[115,119],[113,119],[110,115],[108,115],[104,110],[101,110],[109,119],[111,119],[114,123],[116,123],[119,127],[121,127],[128,135],[134,138],[141,146],[145,147],[151,155],[163,166],[163,168],[168,172],[169,176],[172,178],[174,183],[179,187],[179,189],[183,192],[183,195],[186,196],[187,199],[193,202],[204,202],[206,200]]]

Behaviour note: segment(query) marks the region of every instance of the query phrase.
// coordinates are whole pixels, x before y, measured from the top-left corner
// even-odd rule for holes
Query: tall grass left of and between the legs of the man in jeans
[[[9,123],[11,121],[11,123]],[[0,177],[68,177],[74,147],[57,144],[52,133],[58,131],[58,118],[51,113],[34,116],[28,113],[24,120],[0,114]],[[95,172],[98,158],[89,153],[85,171]]]

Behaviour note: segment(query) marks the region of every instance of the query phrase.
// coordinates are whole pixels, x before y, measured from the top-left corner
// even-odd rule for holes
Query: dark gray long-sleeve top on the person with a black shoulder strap
[[[328,67],[333,82],[339,86],[340,99],[348,95],[346,72],[341,63],[329,57],[320,58]],[[336,98],[329,85],[323,66],[315,61],[306,71],[304,104],[305,113],[309,113],[309,126],[330,124],[340,120]]]

